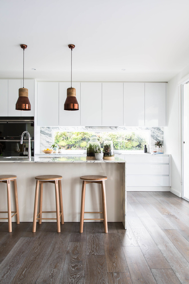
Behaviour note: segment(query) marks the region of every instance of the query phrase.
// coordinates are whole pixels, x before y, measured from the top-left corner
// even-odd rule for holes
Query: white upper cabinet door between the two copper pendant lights
[[[58,82],[38,82],[38,126],[58,126]]]

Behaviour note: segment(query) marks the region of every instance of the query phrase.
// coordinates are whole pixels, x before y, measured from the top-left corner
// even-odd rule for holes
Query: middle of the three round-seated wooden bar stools
[[[36,179],[36,193],[35,193],[35,203],[34,203],[33,233],[36,232],[36,220],[39,220],[39,224],[41,224],[42,222],[41,220],[56,220],[57,232],[60,233],[60,217],[61,217],[61,224],[64,224],[62,186],[61,186],[62,176],[56,176],[56,175],[36,176],[35,179]],[[51,182],[55,184],[56,211],[42,211],[43,184],[46,182]],[[39,185],[40,185],[40,203],[39,203],[39,213],[37,214]],[[55,213],[55,212],[56,212],[56,218],[42,218],[42,213]],[[37,218],[38,216],[39,218]]]

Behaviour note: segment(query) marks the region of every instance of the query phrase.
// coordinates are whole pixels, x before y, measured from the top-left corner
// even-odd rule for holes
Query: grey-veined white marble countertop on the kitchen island
[[[51,162],[60,162],[60,163],[125,163],[124,159],[115,157],[114,160],[86,160],[85,157],[80,156],[61,156],[61,157],[31,157],[29,161],[26,157],[1,157],[0,163],[3,162],[22,162],[22,163],[51,163]]]

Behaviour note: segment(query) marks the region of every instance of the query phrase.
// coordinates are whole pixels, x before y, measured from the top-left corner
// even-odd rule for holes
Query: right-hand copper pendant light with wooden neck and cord
[[[71,49],[71,88],[67,89],[67,98],[64,103],[64,110],[79,110],[79,104],[76,99],[76,89],[72,88],[72,49],[75,45],[69,44],[68,47]]]

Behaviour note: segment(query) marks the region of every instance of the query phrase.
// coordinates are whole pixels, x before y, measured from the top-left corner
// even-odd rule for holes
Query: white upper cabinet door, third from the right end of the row
[[[123,83],[102,83],[102,126],[123,126]]]

